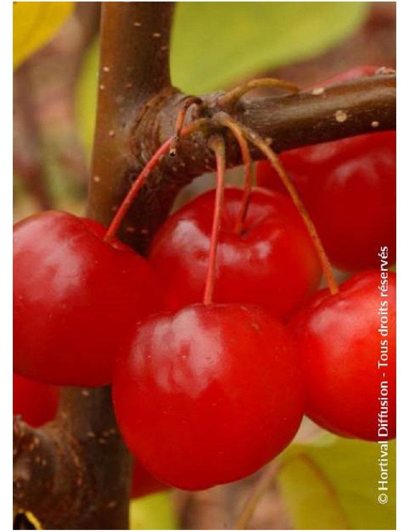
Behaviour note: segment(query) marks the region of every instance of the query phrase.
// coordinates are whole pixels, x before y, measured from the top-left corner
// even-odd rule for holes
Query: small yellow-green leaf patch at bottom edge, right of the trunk
[[[129,505],[129,530],[177,530],[176,511],[169,493],[133,499]]]

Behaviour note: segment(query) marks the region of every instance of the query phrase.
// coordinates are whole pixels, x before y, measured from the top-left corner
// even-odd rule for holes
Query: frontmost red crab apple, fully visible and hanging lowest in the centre
[[[293,341],[270,312],[198,304],[135,330],[113,402],[125,442],[152,475],[205,489],[250,475],[289,444],[301,386]]]

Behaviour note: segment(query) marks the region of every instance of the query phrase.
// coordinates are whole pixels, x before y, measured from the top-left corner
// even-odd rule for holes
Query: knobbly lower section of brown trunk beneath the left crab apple
[[[66,388],[54,422],[33,429],[13,421],[14,504],[43,528],[127,522],[131,459],[109,405],[108,387]]]

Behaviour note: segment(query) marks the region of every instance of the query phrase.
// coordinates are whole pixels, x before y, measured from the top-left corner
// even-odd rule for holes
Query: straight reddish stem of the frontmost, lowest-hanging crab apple
[[[212,235],[210,240],[209,262],[206,275],[206,285],[203,303],[210,305],[213,299],[214,278],[216,269],[216,252],[219,244],[221,214],[224,194],[224,173],[226,172],[226,145],[221,135],[213,135],[208,140],[208,145],[216,156],[216,197],[214,201],[214,214]]]

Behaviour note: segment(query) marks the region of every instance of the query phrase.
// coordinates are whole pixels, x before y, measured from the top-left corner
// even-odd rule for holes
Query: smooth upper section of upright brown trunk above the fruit
[[[105,2],[102,12],[98,111],[88,215],[107,225],[128,188],[129,128],[146,102],[172,94],[169,40],[172,2]],[[143,139],[140,139],[143,143]]]

